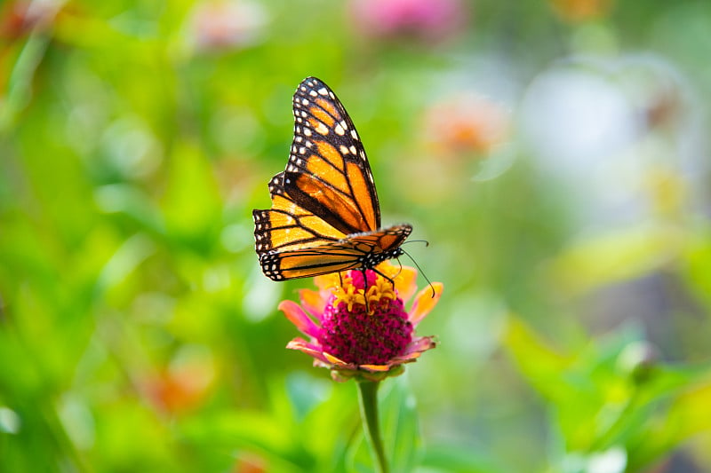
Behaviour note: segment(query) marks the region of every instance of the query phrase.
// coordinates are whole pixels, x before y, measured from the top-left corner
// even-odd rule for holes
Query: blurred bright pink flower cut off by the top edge
[[[459,33],[467,20],[461,0],[352,0],[349,12],[363,33],[383,38],[443,40]]]

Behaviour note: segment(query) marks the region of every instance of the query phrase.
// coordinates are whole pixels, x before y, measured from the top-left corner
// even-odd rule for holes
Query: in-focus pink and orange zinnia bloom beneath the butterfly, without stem
[[[415,336],[414,330],[439,300],[443,285],[423,288],[406,311],[405,303],[417,290],[417,272],[388,262],[376,270],[364,272],[367,285],[361,270],[318,276],[318,291],[301,289],[301,305],[279,304],[309,337],[294,338],[286,348],[311,355],[314,366],[330,368],[336,381],[379,381],[401,374],[404,363],[435,348],[433,337]]]

